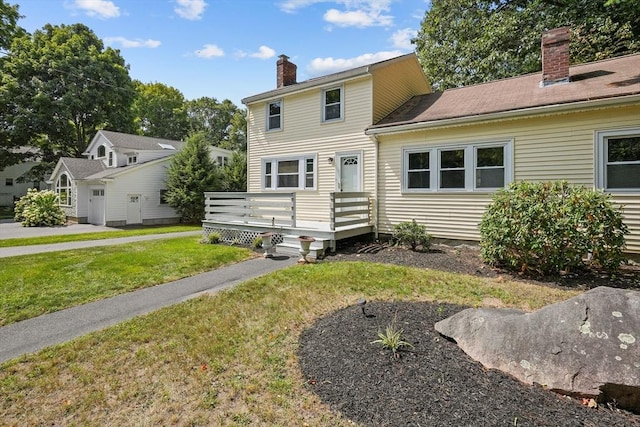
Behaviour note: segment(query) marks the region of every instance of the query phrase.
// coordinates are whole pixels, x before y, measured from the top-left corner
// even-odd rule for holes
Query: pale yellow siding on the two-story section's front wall
[[[329,86],[333,87],[333,86]],[[316,191],[299,190],[296,196],[297,219],[329,221],[329,193],[335,191],[335,166],[328,162],[336,152],[361,151],[363,154],[363,191],[375,191],[375,145],[364,134],[371,125],[371,78],[345,82],[344,120],[322,123],[322,88],[283,98],[282,130],[264,132],[266,105],[249,106],[248,186],[261,191],[261,159],[287,155],[317,155]]]

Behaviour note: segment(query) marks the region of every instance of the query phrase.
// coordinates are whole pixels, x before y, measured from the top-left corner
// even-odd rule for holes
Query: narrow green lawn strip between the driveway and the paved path
[[[64,234],[60,236],[39,236],[0,240],[0,248],[10,246],[32,246],[52,243],[78,242],[82,240],[114,239],[117,237],[144,236],[148,234],[177,233],[202,230],[200,225],[170,225],[158,227],[132,228],[128,230],[99,231],[95,233]]]

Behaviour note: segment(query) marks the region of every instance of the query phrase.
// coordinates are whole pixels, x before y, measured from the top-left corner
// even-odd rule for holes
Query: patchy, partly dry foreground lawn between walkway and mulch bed
[[[68,265],[83,258],[76,274],[102,264]],[[111,274],[96,286],[127,276]],[[362,297],[535,309],[576,293],[362,262],[293,266],[0,365],[0,414],[7,425],[353,426],[298,369],[315,319]]]

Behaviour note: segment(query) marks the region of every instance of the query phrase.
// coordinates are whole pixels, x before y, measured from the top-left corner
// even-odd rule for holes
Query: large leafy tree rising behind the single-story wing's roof
[[[543,32],[570,26],[571,62],[640,51],[640,9],[610,0],[433,0],[414,40],[434,89],[541,69]]]

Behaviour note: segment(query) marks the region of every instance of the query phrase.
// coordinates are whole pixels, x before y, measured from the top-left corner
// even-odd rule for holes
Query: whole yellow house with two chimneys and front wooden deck
[[[435,93],[413,54],[300,83],[281,56],[276,89],[243,99],[248,193],[209,193],[205,231],[312,235],[318,254],[412,219],[479,240],[497,189],[567,180],[610,192],[640,252],[640,55],[569,67],[568,42],[543,36],[542,73]]]

